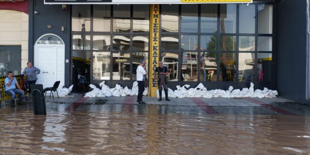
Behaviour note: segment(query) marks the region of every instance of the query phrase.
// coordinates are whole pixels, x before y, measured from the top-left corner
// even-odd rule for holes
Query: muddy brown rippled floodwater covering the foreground
[[[0,109],[0,154],[309,155],[310,117]]]

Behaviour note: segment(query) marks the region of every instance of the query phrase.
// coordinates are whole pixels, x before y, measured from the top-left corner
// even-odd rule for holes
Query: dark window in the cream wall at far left
[[[0,46],[0,76],[21,74],[21,46]]]

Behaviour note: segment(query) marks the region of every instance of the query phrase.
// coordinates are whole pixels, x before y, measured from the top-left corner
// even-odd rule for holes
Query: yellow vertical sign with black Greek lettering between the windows
[[[151,97],[156,97],[157,80],[154,78],[155,69],[159,61],[159,5],[151,5],[151,38],[150,38],[150,84],[149,94]]]

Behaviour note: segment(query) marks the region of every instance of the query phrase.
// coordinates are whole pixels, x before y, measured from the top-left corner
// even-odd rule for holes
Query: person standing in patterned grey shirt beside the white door
[[[35,84],[37,81],[37,75],[40,74],[40,69],[32,66],[32,62],[27,62],[27,67],[23,71],[23,75],[27,77],[26,88],[29,90],[28,93],[31,95],[30,85]]]

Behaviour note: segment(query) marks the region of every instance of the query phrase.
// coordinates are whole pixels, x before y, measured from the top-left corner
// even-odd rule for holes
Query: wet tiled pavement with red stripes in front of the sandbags
[[[123,112],[123,113],[181,113],[181,114],[240,114],[240,115],[307,115],[310,106],[295,103],[284,98],[170,98],[171,101],[157,101],[158,98],[143,96],[146,105],[139,105],[136,96],[88,98],[82,94],[67,97],[46,98],[47,110]],[[1,104],[4,108],[4,104]],[[5,108],[10,108],[6,103]],[[17,108],[32,108],[31,104]]]

